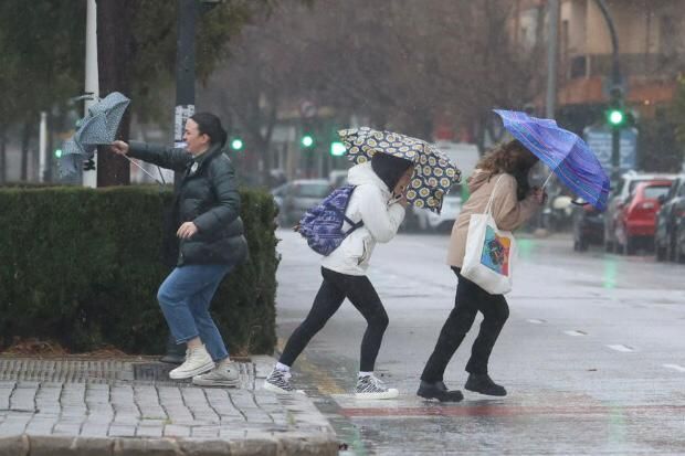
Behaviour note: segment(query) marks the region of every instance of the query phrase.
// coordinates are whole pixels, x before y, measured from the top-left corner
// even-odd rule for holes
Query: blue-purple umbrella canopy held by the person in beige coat
[[[609,177],[590,147],[552,119],[495,109],[504,127],[535,153],[577,195],[600,211],[607,208]]]

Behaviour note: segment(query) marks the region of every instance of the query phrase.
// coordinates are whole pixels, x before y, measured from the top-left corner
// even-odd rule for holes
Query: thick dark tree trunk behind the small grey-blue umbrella
[[[130,96],[130,68],[134,46],[130,24],[136,9],[135,0],[97,0],[97,67],[99,94],[112,92]],[[119,126],[119,138],[128,139],[130,114],[127,112]],[[109,152],[107,146],[97,148],[97,187],[130,183],[128,160]]]

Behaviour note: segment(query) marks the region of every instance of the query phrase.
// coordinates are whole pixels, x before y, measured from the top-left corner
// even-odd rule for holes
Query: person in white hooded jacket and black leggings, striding
[[[361,340],[356,396],[398,396],[398,390],[387,388],[373,375],[376,358],[388,327],[388,314],[366,272],[376,243],[390,242],[404,220],[408,204],[405,191],[412,173],[412,161],[381,152],[377,152],[370,162],[350,168],[348,183],[356,188],[345,214],[355,224],[360,221],[363,224],[323,258],[324,280],[312,310],[285,344],[278,362],[264,382],[264,389],[275,392],[294,391],[289,383],[291,367],[309,340],[324,328],[345,298],[348,298],[368,325]],[[345,222],[342,230],[347,231],[350,226]]]

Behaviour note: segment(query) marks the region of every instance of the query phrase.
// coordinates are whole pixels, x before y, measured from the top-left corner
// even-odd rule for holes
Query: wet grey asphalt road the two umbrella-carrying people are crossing
[[[318,255],[280,231],[281,344],[320,284]],[[341,454],[685,455],[685,266],[650,256],[576,253],[566,236],[520,238],[510,316],[491,358],[509,394],[464,391],[444,405],[415,395],[454,299],[447,235],[400,234],[379,245],[369,277],[390,326],[377,375],[400,390],[357,401],[365,322],[346,303],[294,365],[294,383],[331,420]],[[445,382],[462,389],[474,328]]]

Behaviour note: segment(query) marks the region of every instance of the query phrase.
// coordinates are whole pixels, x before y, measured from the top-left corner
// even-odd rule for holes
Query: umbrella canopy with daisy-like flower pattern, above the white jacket
[[[348,158],[363,163],[375,153],[388,153],[414,162],[407,201],[440,213],[444,195],[461,181],[461,171],[434,146],[417,138],[368,127],[338,131]]]

